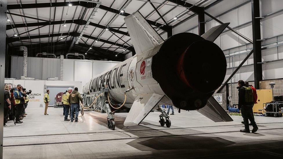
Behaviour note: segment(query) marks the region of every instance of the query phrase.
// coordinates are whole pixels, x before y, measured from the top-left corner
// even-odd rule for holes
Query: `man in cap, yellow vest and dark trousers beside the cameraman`
[[[15,103],[16,103],[16,122],[17,124],[23,123],[22,121],[20,121],[23,118],[20,118],[20,114],[21,114],[21,109],[23,107],[23,104],[25,103],[26,97],[23,96],[23,94],[21,93],[21,85],[17,85],[17,89],[14,91],[13,95],[14,95],[14,99],[15,99]]]

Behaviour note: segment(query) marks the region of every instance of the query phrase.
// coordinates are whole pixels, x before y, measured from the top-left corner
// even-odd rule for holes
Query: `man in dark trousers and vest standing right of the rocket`
[[[251,87],[246,87],[243,80],[238,81],[239,85],[239,109],[241,110],[242,117],[244,119],[245,129],[240,130],[240,132],[250,133],[250,128],[248,125],[248,120],[251,121],[253,125],[252,133],[256,132],[258,127],[253,118],[253,90]]]

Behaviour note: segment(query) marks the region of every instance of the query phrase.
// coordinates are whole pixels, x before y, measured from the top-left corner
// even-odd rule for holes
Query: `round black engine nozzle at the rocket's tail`
[[[209,93],[222,84],[226,67],[220,47],[211,41],[200,40],[192,43],[180,56],[177,73],[189,87]]]

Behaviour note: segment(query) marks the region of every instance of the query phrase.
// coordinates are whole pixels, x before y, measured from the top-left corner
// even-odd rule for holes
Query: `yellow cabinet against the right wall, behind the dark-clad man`
[[[263,114],[263,103],[272,101],[271,89],[257,89],[257,104],[253,106],[254,113]]]

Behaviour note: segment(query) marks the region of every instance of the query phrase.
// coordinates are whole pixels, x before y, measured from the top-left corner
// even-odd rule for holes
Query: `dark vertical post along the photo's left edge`
[[[0,0],[0,158],[3,158],[3,119],[4,119],[4,91],[5,83],[5,54],[6,54],[6,21],[7,0]]]

